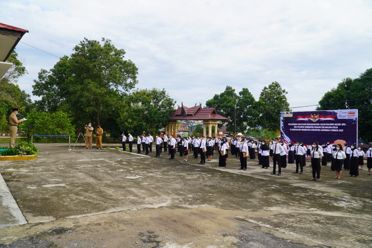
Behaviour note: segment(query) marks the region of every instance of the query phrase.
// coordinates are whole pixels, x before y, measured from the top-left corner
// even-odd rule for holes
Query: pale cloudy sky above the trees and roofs
[[[58,57],[84,37],[109,38],[138,67],[138,88],[165,88],[186,106],[227,85],[257,100],[273,81],[291,107],[318,104],[344,77],[372,67],[370,0],[1,0],[0,16],[29,30],[22,42]],[[16,49],[29,72],[19,86],[32,94],[32,80],[58,58]]]

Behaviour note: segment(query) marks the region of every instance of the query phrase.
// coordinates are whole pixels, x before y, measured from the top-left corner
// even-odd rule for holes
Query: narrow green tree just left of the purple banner
[[[280,111],[291,111],[285,96],[287,93],[276,81],[262,89],[257,102],[257,110],[260,113],[258,125],[271,131],[279,129]]]

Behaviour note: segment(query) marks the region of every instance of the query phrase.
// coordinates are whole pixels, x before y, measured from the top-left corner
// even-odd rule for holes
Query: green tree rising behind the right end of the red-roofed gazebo
[[[226,86],[225,91],[219,95],[206,101],[205,105],[208,108],[216,106],[217,113],[228,117],[226,130],[235,132],[243,132],[246,129],[246,124],[253,125],[255,118],[258,116],[254,109],[255,100],[247,88],[243,88],[239,95],[235,93],[235,89],[231,86]]]

